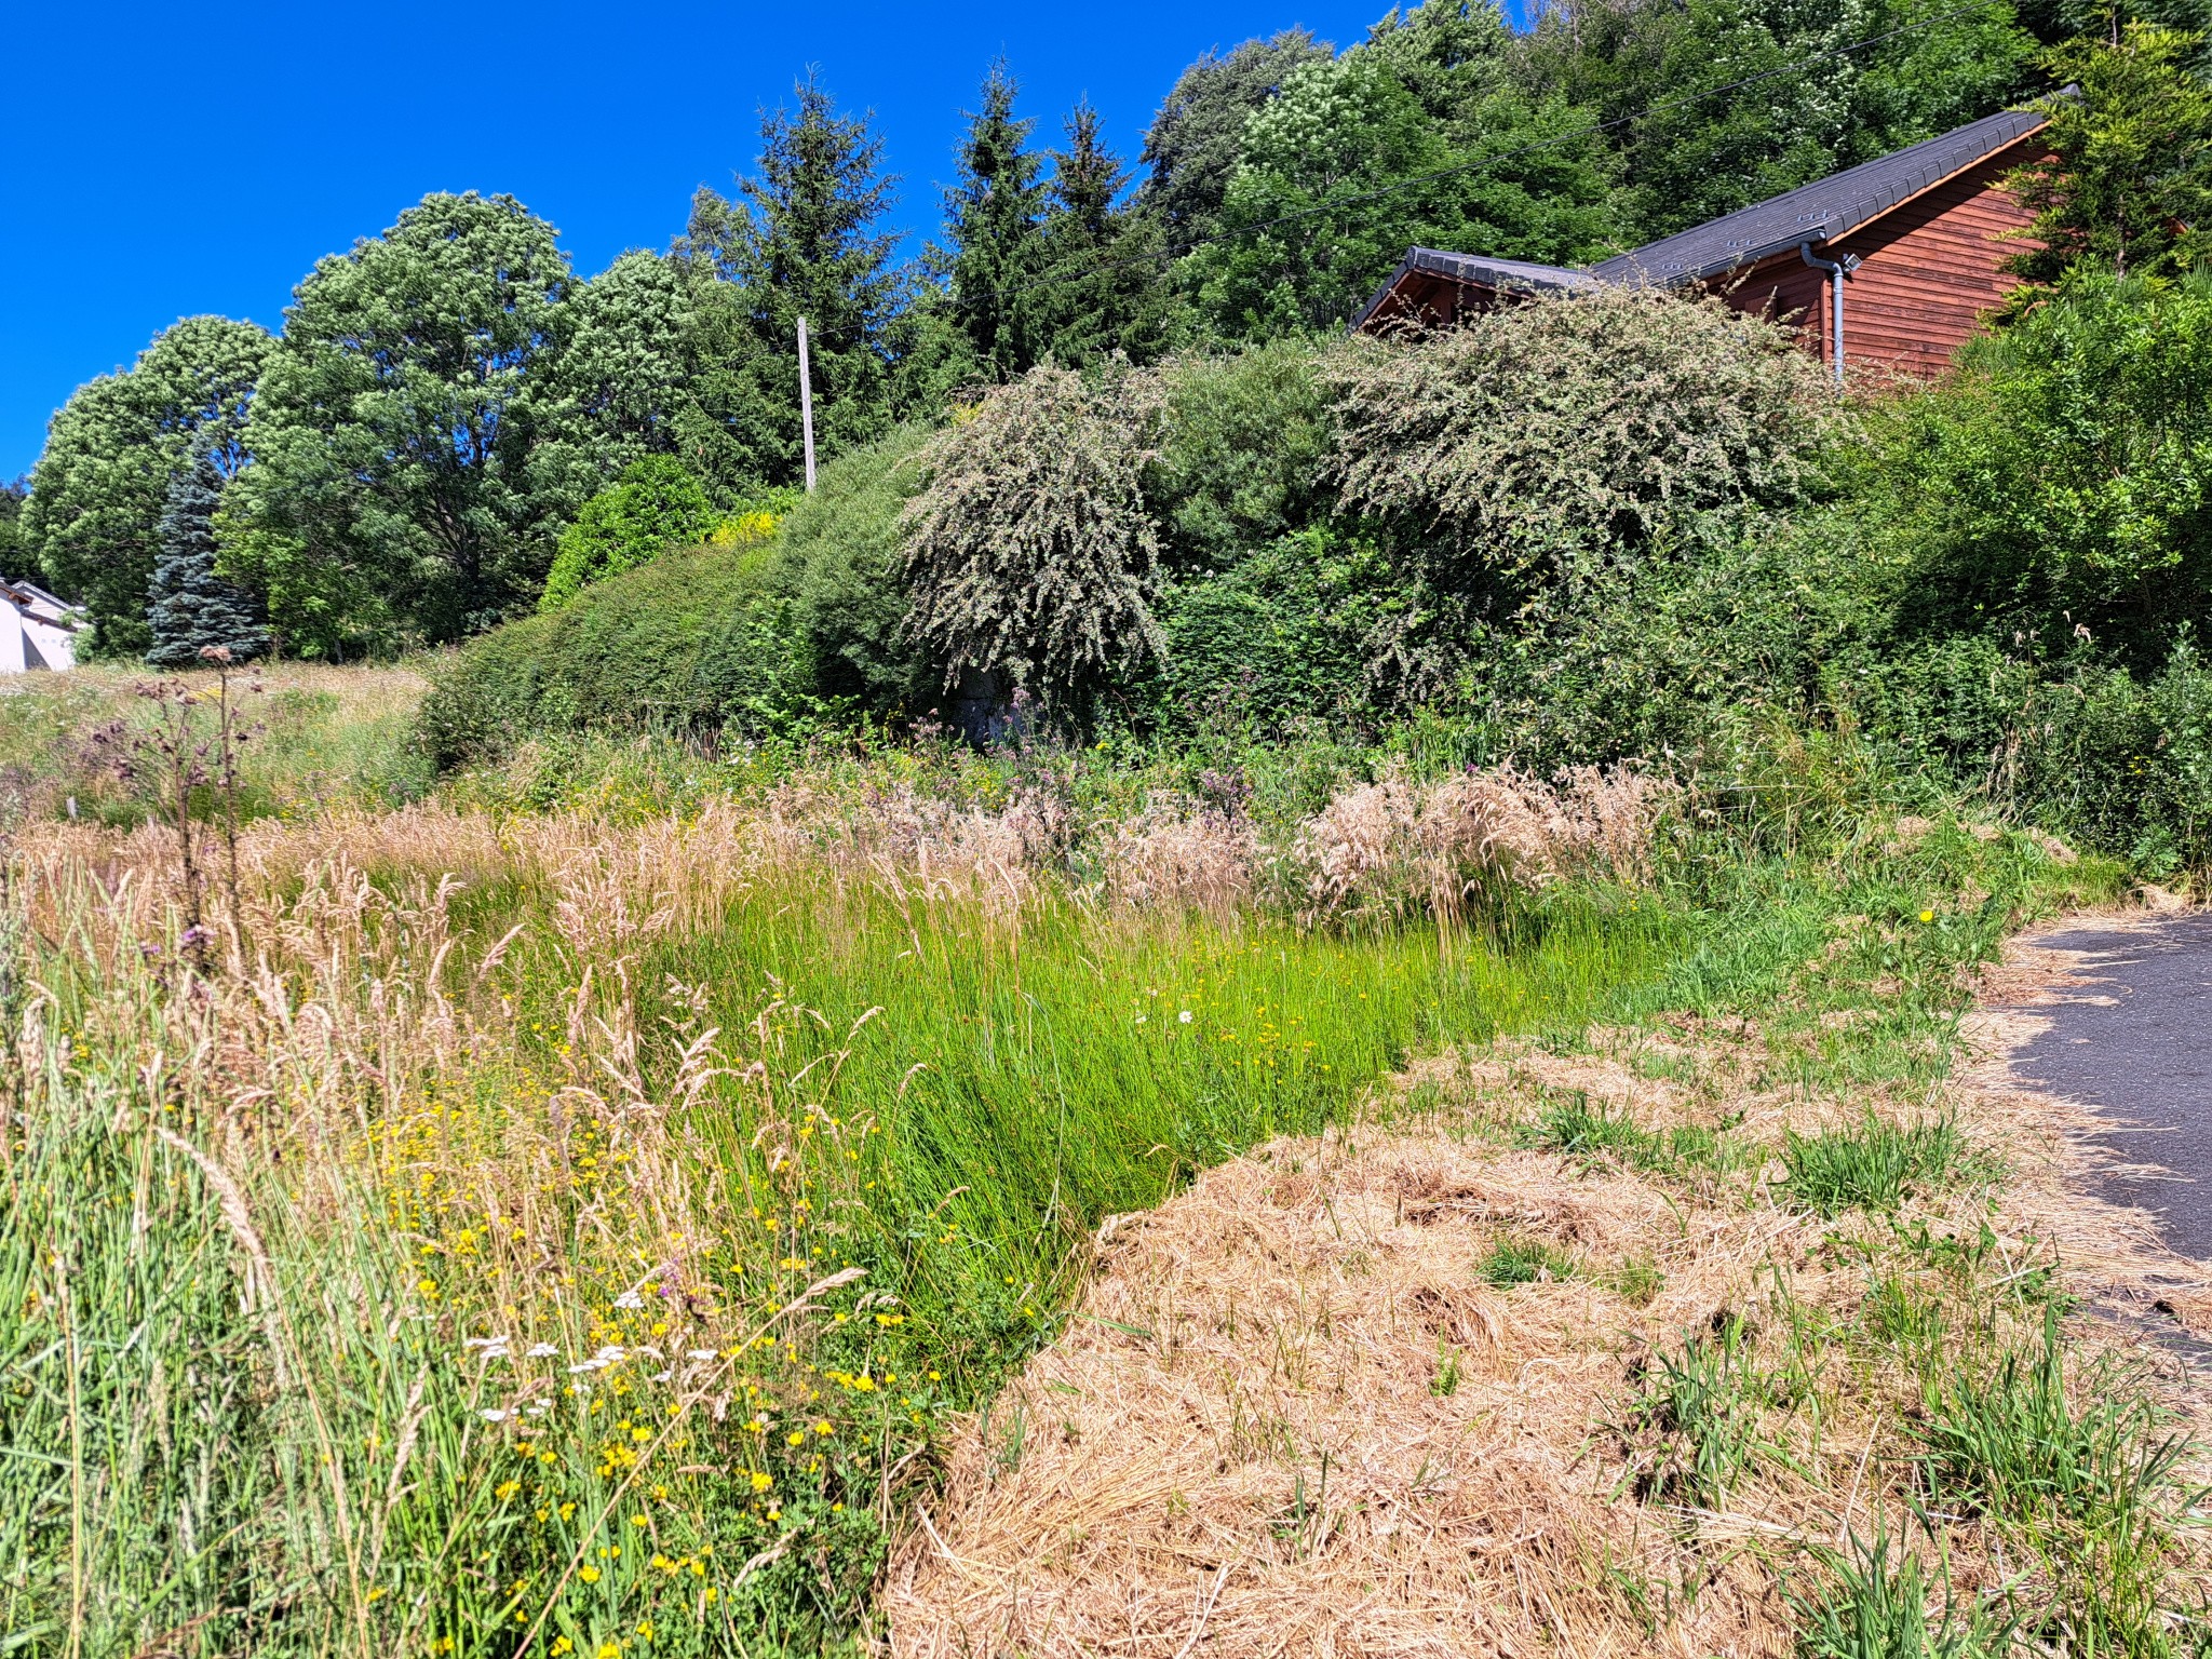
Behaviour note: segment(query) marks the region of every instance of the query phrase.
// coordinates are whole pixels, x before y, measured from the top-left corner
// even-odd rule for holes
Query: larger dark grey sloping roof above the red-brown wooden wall
[[[1772,201],[1710,219],[1590,265],[1599,281],[1694,283],[1805,241],[1836,241],[1880,212],[1986,161],[2044,126],[2039,111],[2008,108],[1955,133],[1801,184]]]

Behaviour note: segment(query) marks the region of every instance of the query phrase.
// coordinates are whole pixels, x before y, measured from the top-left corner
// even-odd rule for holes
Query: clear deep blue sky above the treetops
[[[750,166],[757,111],[818,64],[874,106],[936,228],[958,113],[1004,51],[1026,113],[1077,95],[1126,157],[1206,46],[1303,22],[1345,44],[1387,0],[1037,4],[20,7],[0,84],[0,480],[46,416],[179,316],[276,327],[307,268],[427,190],[509,190],[580,272],[661,248]]]

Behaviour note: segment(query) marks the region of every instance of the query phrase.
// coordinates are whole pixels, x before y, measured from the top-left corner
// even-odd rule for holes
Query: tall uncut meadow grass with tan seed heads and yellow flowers
[[[316,741],[285,752],[343,750]],[[248,836],[197,951],[153,832],[13,865],[18,1648],[863,1644],[945,1433],[1066,1327],[1113,1217],[1418,1108],[1394,1071],[1500,1035],[1752,1011],[1809,1093],[1936,1077],[1960,971],[2059,891],[2011,841],[1692,843],[1657,887],[1495,894],[1480,927],[1314,925],[1133,905],[1082,849],[993,863],[1004,836],[960,867],[894,856],[867,814],[911,757],[825,772],[854,830],[796,843],[790,757],[761,763],[761,816],[670,810],[650,765],[575,779],[584,810],[478,779],[347,816],[299,787],[321,765],[283,774],[307,821]],[[967,768],[962,812],[1009,814],[1048,770]],[[1573,1099],[1537,1133],[1661,1172],[1759,1157]],[[1630,1303],[1663,1283],[1641,1259],[1586,1276]],[[1440,1347],[1433,1387],[1458,1376]],[[1657,1489],[1719,1500],[1774,1398],[1725,1332],[1659,1358]]]

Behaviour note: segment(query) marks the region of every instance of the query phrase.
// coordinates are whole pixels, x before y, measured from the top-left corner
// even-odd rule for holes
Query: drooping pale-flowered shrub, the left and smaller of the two
[[[1144,502],[1159,414],[1150,376],[1040,365],[929,440],[905,515],[909,624],[947,684],[998,675],[1079,714],[1161,655]]]

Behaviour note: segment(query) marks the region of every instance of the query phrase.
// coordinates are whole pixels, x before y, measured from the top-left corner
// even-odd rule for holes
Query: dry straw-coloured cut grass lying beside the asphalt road
[[[2048,982],[2062,964],[2037,949],[1991,989]],[[2004,1148],[2004,1261],[2055,1252],[2077,1294],[2205,1332],[2203,1267],[2084,1199],[2077,1119],[2004,1073],[2020,1020],[1982,1015],[1980,1060],[1940,1099],[1880,1110],[1940,1108]],[[1117,1217],[1082,1312],[956,1444],[942,1504],[898,1548],[891,1652],[1790,1652],[1778,1568],[1876,1513],[1902,1526],[1918,1383],[1856,1356],[1818,1433],[1770,1416],[1783,1458],[1721,1513],[1652,1489],[1635,1398],[1686,1332],[1741,1316],[1781,1343],[1790,1307],[1856,1312],[1867,1270],[1829,1241],[1871,1223],[1767,1203],[1778,1164],[1699,1190],[1484,1135],[1559,1091],[1648,1128],[1741,1113],[1770,1144],[1863,1108],[1761,1091],[1759,1051],[1747,1026],[1686,1022],[1597,1031],[1586,1053],[1436,1060],[1407,1079],[1451,1088],[1433,1128],[1276,1141]],[[1980,1225],[1962,1206],[1913,1208]],[[1489,1285],[1500,1239],[1559,1250],[1573,1276]],[[1624,1263],[1663,1274],[1648,1303],[1624,1294]],[[2203,1425],[2139,1329],[2088,1321],[2079,1343],[2135,1347]],[[2008,1577],[1971,1524],[1949,1555],[1962,1593]]]

